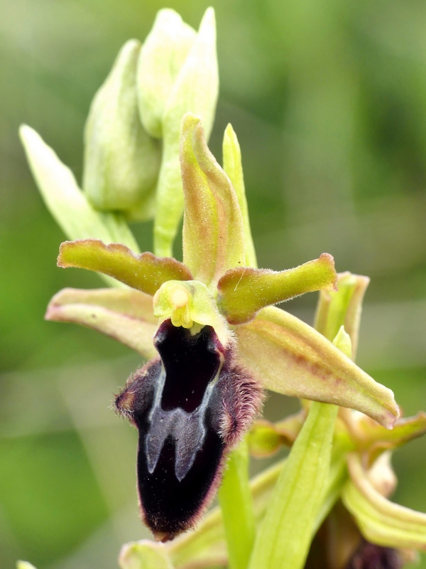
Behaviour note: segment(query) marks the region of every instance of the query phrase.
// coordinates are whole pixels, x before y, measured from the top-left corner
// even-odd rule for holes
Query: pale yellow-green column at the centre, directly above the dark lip
[[[155,293],[153,310],[155,317],[161,320],[170,318],[173,326],[194,331],[199,331],[200,326],[212,326],[224,347],[231,341],[226,320],[202,282],[169,280],[163,283]]]

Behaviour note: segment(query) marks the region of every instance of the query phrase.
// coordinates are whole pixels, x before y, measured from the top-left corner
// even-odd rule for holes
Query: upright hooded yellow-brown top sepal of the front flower
[[[245,263],[243,220],[234,188],[194,115],[182,121],[181,163],[183,260],[196,280],[214,288],[224,272]]]

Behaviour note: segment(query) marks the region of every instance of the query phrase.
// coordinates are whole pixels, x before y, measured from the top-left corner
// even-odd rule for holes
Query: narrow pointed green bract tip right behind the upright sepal
[[[257,267],[256,250],[251,236],[249,208],[246,200],[246,188],[244,186],[243,165],[241,164],[241,149],[238,139],[231,124],[225,129],[222,146],[224,156],[224,171],[229,176],[232,186],[238,198],[238,203],[243,216],[244,240],[246,242],[246,265]]]

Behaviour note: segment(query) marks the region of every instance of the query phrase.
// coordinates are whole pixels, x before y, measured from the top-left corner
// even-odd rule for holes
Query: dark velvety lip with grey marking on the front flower
[[[261,389],[212,326],[192,335],[166,320],[154,345],[159,357],[129,378],[115,405],[139,432],[141,516],[168,541],[212,500],[226,451],[258,413]]]

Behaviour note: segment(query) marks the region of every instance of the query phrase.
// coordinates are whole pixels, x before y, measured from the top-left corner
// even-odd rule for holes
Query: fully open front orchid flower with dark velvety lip
[[[141,514],[163,541],[193,527],[212,500],[226,455],[261,408],[263,389],[354,408],[387,428],[398,417],[390,390],[315,329],[271,306],[333,290],[337,275],[326,253],[281,272],[248,266],[255,261],[246,246],[251,235],[231,127],[224,170],[200,119],[185,115],[180,164],[183,262],[100,240],[62,243],[60,267],[101,272],[126,288],[65,289],[46,314],[151,358],[129,378],[116,409],[138,428]]]

